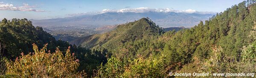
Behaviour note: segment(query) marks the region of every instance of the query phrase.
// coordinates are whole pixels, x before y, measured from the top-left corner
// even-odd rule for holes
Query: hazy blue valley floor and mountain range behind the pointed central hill
[[[33,25],[41,26],[57,40],[72,41],[77,37],[85,37],[114,29],[117,24],[123,24],[149,17],[163,28],[195,26],[201,20],[208,20],[214,14],[175,13],[175,12],[107,12],[95,15],[81,15],[46,20],[32,20]],[[108,28],[109,26],[111,28]],[[105,29],[101,29],[106,26]],[[64,31],[66,32],[64,32]],[[67,39],[67,37],[69,37]],[[70,38],[72,37],[72,38]],[[74,38],[75,37],[75,38]]]

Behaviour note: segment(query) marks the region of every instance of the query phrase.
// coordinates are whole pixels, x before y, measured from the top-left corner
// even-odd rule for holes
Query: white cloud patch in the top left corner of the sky
[[[0,10],[44,12],[44,10],[37,10],[33,8],[35,8],[35,6],[29,6],[27,3],[23,3],[23,6],[14,6],[10,3],[0,2]]]

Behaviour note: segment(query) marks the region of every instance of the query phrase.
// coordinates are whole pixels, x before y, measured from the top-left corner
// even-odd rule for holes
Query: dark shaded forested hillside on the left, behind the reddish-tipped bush
[[[76,71],[85,70],[87,75],[92,75],[93,69],[96,69],[102,62],[103,64],[106,62],[105,52],[91,51],[81,46],[72,46],[67,42],[55,40],[55,38],[45,32],[42,27],[34,27],[32,21],[26,18],[12,20],[3,19],[0,21],[0,73],[2,74],[6,69],[4,67],[5,62],[3,62],[4,58],[8,61],[15,61],[15,58],[17,59],[22,55],[34,55],[36,52],[32,46],[34,43],[38,45],[37,47],[39,49],[43,48],[44,44],[47,44],[44,53],[55,52],[56,48],[58,48],[58,50],[63,51],[63,54],[65,54],[65,50],[71,46],[70,52],[74,53],[76,58],[81,61]],[[19,71],[22,70],[20,69]]]

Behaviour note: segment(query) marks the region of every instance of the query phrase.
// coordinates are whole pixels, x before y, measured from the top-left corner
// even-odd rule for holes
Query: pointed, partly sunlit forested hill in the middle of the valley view
[[[135,43],[144,43],[145,41],[155,40],[161,34],[163,34],[162,28],[157,26],[151,20],[142,18],[134,22],[121,24],[111,32],[92,35],[90,38],[84,39],[84,42],[81,45],[87,48],[93,47],[93,49],[98,50],[108,49],[110,52],[126,53],[134,56],[137,53],[128,52],[137,52],[140,50],[140,44],[135,45]],[[128,47],[137,47],[137,49],[128,49]]]

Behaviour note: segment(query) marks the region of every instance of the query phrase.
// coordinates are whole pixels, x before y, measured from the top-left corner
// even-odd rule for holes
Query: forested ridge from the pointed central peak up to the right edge
[[[249,6],[250,5],[250,6]],[[113,55],[134,58],[136,55],[175,55],[181,64],[208,58],[212,47],[221,46],[229,59],[238,59],[242,46],[251,43],[250,30],[256,15],[255,4],[242,2],[216,14],[205,23],[201,21],[191,29],[169,31],[155,25],[147,18],[117,26],[111,32],[84,38],[81,46],[92,49],[107,49]],[[164,34],[163,34],[164,33]],[[195,54],[194,54],[195,53]],[[171,60],[170,60],[171,61]]]

